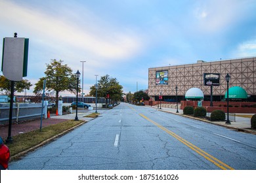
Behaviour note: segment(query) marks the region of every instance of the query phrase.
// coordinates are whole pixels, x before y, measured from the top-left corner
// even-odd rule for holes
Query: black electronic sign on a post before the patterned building
[[[211,86],[211,103],[213,107],[213,86],[219,86],[219,73],[204,73],[203,74],[204,86]]]

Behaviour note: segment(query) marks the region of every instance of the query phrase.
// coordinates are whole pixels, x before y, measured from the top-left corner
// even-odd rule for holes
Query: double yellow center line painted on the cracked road
[[[225,163],[223,163],[221,160],[211,156],[210,154],[208,154],[207,152],[203,151],[202,149],[198,148],[198,146],[195,146],[194,144],[186,141],[185,139],[182,139],[182,137],[180,137],[179,135],[173,133],[172,131],[170,131],[169,129],[163,127],[162,125],[154,122],[153,120],[150,120],[150,118],[144,116],[143,114],[139,114],[140,116],[142,116],[142,118],[148,120],[149,122],[152,122],[152,124],[155,124],[156,126],[158,126],[160,129],[163,129],[163,131],[167,132],[169,135],[173,136],[175,139],[177,139],[178,141],[182,142],[182,144],[185,144],[186,146],[188,146],[190,149],[194,150],[194,152],[197,152],[198,154],[200,154],[201,156],[203,156],[203,158],[207,159],[208,161],[210,161],[211,163],[213,163],[214,165],[216,165],[217,167],[226,170],[226,169],[230,169],[230,170],[234,170],[234,168],[226,165]]]

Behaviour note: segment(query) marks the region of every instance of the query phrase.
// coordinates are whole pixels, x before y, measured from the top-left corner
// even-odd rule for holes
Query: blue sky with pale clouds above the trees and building
[[[33,85],[61,59],[83,71],[85,94],[95,75],[134,93],[148,68],[256,56],[255,10],[256,0],[0,0],[0,50],[14,33],[30,40]]]

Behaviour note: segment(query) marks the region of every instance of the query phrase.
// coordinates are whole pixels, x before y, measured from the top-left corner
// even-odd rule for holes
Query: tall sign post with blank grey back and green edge
[[[14,37],[3,39],[2,71],[5,78],[11,81],[11,101],[9,111],[9,130],[6,142],[12,142],[12,108],[14,98],[14,82],[27,76],[28,70],[28,39]]]

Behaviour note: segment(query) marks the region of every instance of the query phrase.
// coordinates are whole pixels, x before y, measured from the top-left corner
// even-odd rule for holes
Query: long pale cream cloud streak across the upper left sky
[[[38,37],[41,44],[51,41],[51,47],[66,46],[79,52],[86,52],[92,57],[123,59],[137,54],[142,46],[140,37],[129,29],[112,31],[114,27],[101,27],[100,22],[75,24],[74,22],[79,20],[54,17],[53,14],[22,7],[9,1],[0,1],[0,7],[0,16],[5,18],[5,22],[33,30],[34,39]],[[92,18],[95,19],[98,20]],[[96,27],[87,28],[90,26]],[[93,31],[95,29],[98,31]]]

